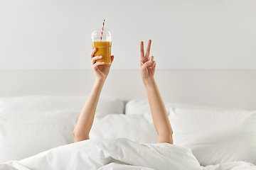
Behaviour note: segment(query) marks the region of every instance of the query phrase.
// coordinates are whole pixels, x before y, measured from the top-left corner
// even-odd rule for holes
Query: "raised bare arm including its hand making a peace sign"
[[[141,42],[141,75],[142,81],[146,89],[146,95],[149,99],[149,106],[154,120],[156,132],[158,134],[157,143],[170,143],[173,144],[172,129],[169,118],[164,106],[164,101],[156,85],[154,79],[154,72],[156,62],[154,57],[149,57],[151,47],[151,40],[149,40],[146,47],[146,56],[144,56],[144,44]]]

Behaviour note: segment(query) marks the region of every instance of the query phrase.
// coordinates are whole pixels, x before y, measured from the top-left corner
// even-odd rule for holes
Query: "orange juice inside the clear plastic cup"
[[[92,42],[92,47],[97,48],[95,56],[102,55],[102,59],[97,60],[96,62],[104,62],[104,64],[111,64],[111,41],[95,41]]]

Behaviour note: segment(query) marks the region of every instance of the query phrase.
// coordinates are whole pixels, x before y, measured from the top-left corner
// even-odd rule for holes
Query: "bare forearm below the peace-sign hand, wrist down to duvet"
[[[156,81],[154,80],[154,77],[150,79],[142,79],[142,81],[146,89],[146,95],[149,99],[149,106],[156,132],[160,137],[169,138],[172,135],[172,129]]]

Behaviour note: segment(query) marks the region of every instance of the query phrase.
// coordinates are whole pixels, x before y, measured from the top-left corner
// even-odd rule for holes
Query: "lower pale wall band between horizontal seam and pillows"
[[[1,96],[89,96],[91,70],[0,70]],[[256,110],[256,70],[158,70],[156,82],[165,102]],[[112,70],[102,96],[146,99],[139,70]]]

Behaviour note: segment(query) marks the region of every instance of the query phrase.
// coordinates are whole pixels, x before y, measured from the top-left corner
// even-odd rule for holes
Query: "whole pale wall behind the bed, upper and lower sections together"
[[[139,42],[151,39],[164,101],[256,109],[255,9],[254,0],[0,0],[0,97],[89,95],[90,35],[105,18],[115,59],[102,95],[146,98]]]

